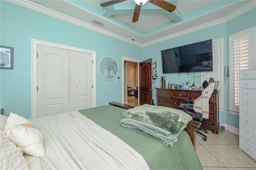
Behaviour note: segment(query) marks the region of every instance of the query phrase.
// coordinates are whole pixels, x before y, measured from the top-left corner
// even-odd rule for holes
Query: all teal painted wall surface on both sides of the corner
[[[224,38],[224,65],[227,66],[229,36],[256,26],[254,8],[226,23],[146,47],[138,47],[10,2],[0,1],[0,12],[0,43],[14,47],[14,69],[0,70],[0,106],[5,109],[4,115],[8,116],[12,111],[26,118],[31,117],[31,39],[96,51],[97,67],[102,57],[114,57],[120,68],[119,83],[105,81],[96,70],[96,106],[101,106],[108,105],[109,101],[122,101],[122,57],[141,60],[152,58],[153,62],[157,61],[159,78],[153,87],[160,87],[160,76],[163,76],[161,50],[208,39]],[[175,73],[164,76],[171,83],[192,79],[187,73],[181,73],[180,76]],[[198,76],[195,78],[195,84],[200,84],[200,73],[195,73],[195,76]],[[153,99],[156,102],[155,90]],[[224,84],[224,112],[220,112],[219,121],[238,128],[238,116],[228,113],[228,107],[229,84]]]

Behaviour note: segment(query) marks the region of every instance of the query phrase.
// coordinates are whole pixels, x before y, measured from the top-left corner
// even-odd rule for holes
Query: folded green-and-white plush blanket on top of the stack
[[[178,109],[164,106],[141,105],[123,112],[124,117],[142,121],[178,133],[186,128],[192,117]]]

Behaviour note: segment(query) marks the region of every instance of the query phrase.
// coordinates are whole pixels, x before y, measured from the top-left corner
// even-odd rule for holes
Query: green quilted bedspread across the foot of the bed
[[[101,106],[79,112],[132,146],[143,156],[151,170],[202,170],[190,137],[184,130],[173,146],[165,147],[153,138],[122,127],[120,120],[124,118],[124,110],[114,106]]]

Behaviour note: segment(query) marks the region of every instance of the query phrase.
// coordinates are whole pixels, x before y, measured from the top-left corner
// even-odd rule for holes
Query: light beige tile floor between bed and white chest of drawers
[[[196,133],[196,154],[204,170],[256,170],[256,162],[239,148],[238,135],[226,129],[207,131],[206,141]]]

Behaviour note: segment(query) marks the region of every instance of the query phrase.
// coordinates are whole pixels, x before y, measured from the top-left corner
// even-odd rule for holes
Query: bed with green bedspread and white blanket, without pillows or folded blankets
[[[120,120],[123,119],[122,113],[126,109],[128,108],[124,105],[110,103],[107,106],[84,109],[77,113],[68,114],[67,119],[63,120],[61,114],[50,116],[51,119],[45,117],[32,119],[31,123],[41,130],[44,137],[45,154],[40,157],[24,154],[28,167],[30,169],[137,169],[138,167],[134,164],[138,162],[138,158],[139,166],[141,166],[139,169],[202,169],[191,142],[191,135],[185,130],[180,132],[173,146],[166,147],[148,136],[122,127]],[[85,118],[92,121],[91,123],[96,123],[99,128],[92,128],[90,122],[84,124]],[[45,120],[43,121],[43,119]],[[46,124],[48,125],[46,126]],[[71,124],[75,125],[71,126]],[[195,126],[193,123],[189,124],[188,127]],[[104,128],[105,131],[100,130],[100,128]],[[76,136],[76,132],[83,129],[91,131],[90,135],[92,136],[88,137],[83,134]],[[190,131],[188,128],[186,130]],[[110,135],[108,132],[114,134],[114,136],[108,136]],[[106,140],[101,138],[104,135],[106,135]],[[79,138],[82,139],[82,142]],[[95,138],[95,140],[92,141],[92,138]],[[116,148],[111,148],[112,146],[105,147],[108,146],[108,142],[115,141],[116,138],[121,139],[120,143],[114,142]],[[112,160],[104,162],[105,157],[102,156],[102,151],[90,150],[88,145],[92,145],[91,141],[93,145],[107,153],[104,154],[116,155],[115,161],[121,162],[125,166],[116,168],[118,166],[112,166],[111,164],[107,167],[105,164],[110,164]],[[128,145],[123,146],[122,142]],[[126,149],[123,149],[123,147],[126,147]],[[131,150],[135,150],[136,153]],[[93,156],[88,157],[89,152],[93,152],[90,154]],[[130,153],[136,158],[126,158]],[[100,158],[97,157],[98,155],[100,155]],[[146,165],[143,161],[146,162]],[[126,164],[128,165],[126,166]]]

